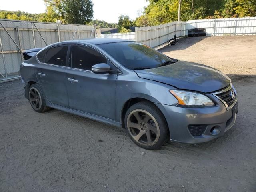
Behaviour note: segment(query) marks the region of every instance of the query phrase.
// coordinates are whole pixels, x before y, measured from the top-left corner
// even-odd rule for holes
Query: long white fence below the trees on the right
[[[150,47],[158,47],[174,38],[187,36],[188,30],[205,28],[206,36],[256,35],[256,17],[202,19],[187,22],[171,22],[158,26],[136,27],[136,41]]]

